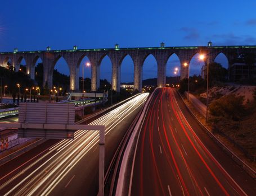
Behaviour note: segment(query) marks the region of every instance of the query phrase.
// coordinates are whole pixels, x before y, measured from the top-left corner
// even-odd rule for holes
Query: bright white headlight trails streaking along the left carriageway
[[[111,133],[123,119],[131,115],[145,101],[149,94],[141,94],[125,104],[94,120],[90,125],[105,125],[105,136]],[[35,160],[13,178],[0,186],[0,192],[15,180],[19,180],[4,195],[32,195],[34,193],[47,195],[65,178],[66,174],[98,143],[98,132],[78,130],[75,139],[64,139],[48,152]],[[98,156],[98,155],[97,155]],[[38,167],[34,168],[37,164]],[[46,172],[47,171],[47,172]],[[42,192],[42,193],[41,193]]]

